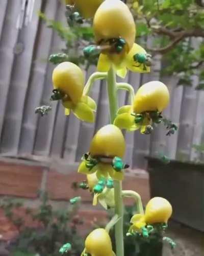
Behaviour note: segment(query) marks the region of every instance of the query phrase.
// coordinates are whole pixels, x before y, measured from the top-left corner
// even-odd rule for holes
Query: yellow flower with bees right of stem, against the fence
[[[169,104],[169,90],[159,81],[143,84],[136,92],[132,105],[121,107],[114,124],[120,129],[134,131],[140,129],[143,134],[150,134],[152,124],[163,122],[162,111]]]

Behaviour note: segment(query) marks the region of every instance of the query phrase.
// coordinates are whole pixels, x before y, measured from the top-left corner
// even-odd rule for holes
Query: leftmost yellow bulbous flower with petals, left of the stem
[[[63,95],[65,114],[70,111],[82,121],[94,122],[95,102],[83,95],[85,77],[81,68],[72,62],[62,62],[53,71],[54,90]]]

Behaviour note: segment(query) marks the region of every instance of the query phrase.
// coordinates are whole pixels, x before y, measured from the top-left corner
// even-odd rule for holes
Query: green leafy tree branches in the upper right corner
[[[204,6],[196,0],[127,0],[135,16],[137,36],[154,38],[152,54],[163,55],[163,74],[177,74],[178,85],[204,89]],[[193,37],[197,37],[196,40]],[[175,61],[176,60],[176,61]]]

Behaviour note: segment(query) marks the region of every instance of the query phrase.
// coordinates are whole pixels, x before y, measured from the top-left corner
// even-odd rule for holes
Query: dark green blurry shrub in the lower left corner
[[[36,253],[41,256],[57,256],[61,255],[59,252],[61,246],[68,241],[72,248],[69,254],[64,253],[64,255],[80,255],[82,239],[77,235],[76,224],[81,224],[81,222],[73,219],[78,206],[55,211],[49,203],[46,193],[41,192],[40,198],[41,204],[37,211],[27,208],[27,215],[40,222],[41,228],[25,227],[22,218],[15,218],[13,210],[22,206],[21,202],[11,198],[1,200],[0,207],[4,209],[6,216],[19,230],[18,238],[11,243],[9,249],[15,256],[30,256],[36,255]]]

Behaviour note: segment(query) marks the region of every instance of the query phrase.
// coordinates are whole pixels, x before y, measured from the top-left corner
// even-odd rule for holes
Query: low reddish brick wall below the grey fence
[[[93,207],[92,196],[89,191],[74,190],[73,182],[81,182],[85,176],[77,173],[78,164],[67,164],[60,159],[52,161],[34,161],[0,158],[0,197],[12,196],[24,199],[24,205],[37,207],[40,201],[38,191],[48,192],[50,202],[54,207],[67,207],[67,202],[74,196],[82,197],[79,216],[83,216],[85,227],[93,220],[105,220],[106,212],[100,206]],[[148,175],[143,170],[127,170],[123,181],[123,189],[132,189],[140,193],[143,203],[149,199]],[[125,199],[125,204],[132,204],[132,199]],[[25,218],[23,208],[17,215]],[[27,220],[27,225],[36,225]],[[16,236],[17,229],[0,210],[0,236],[9,240]],[[0,237],[0,239],[1,239]]]

